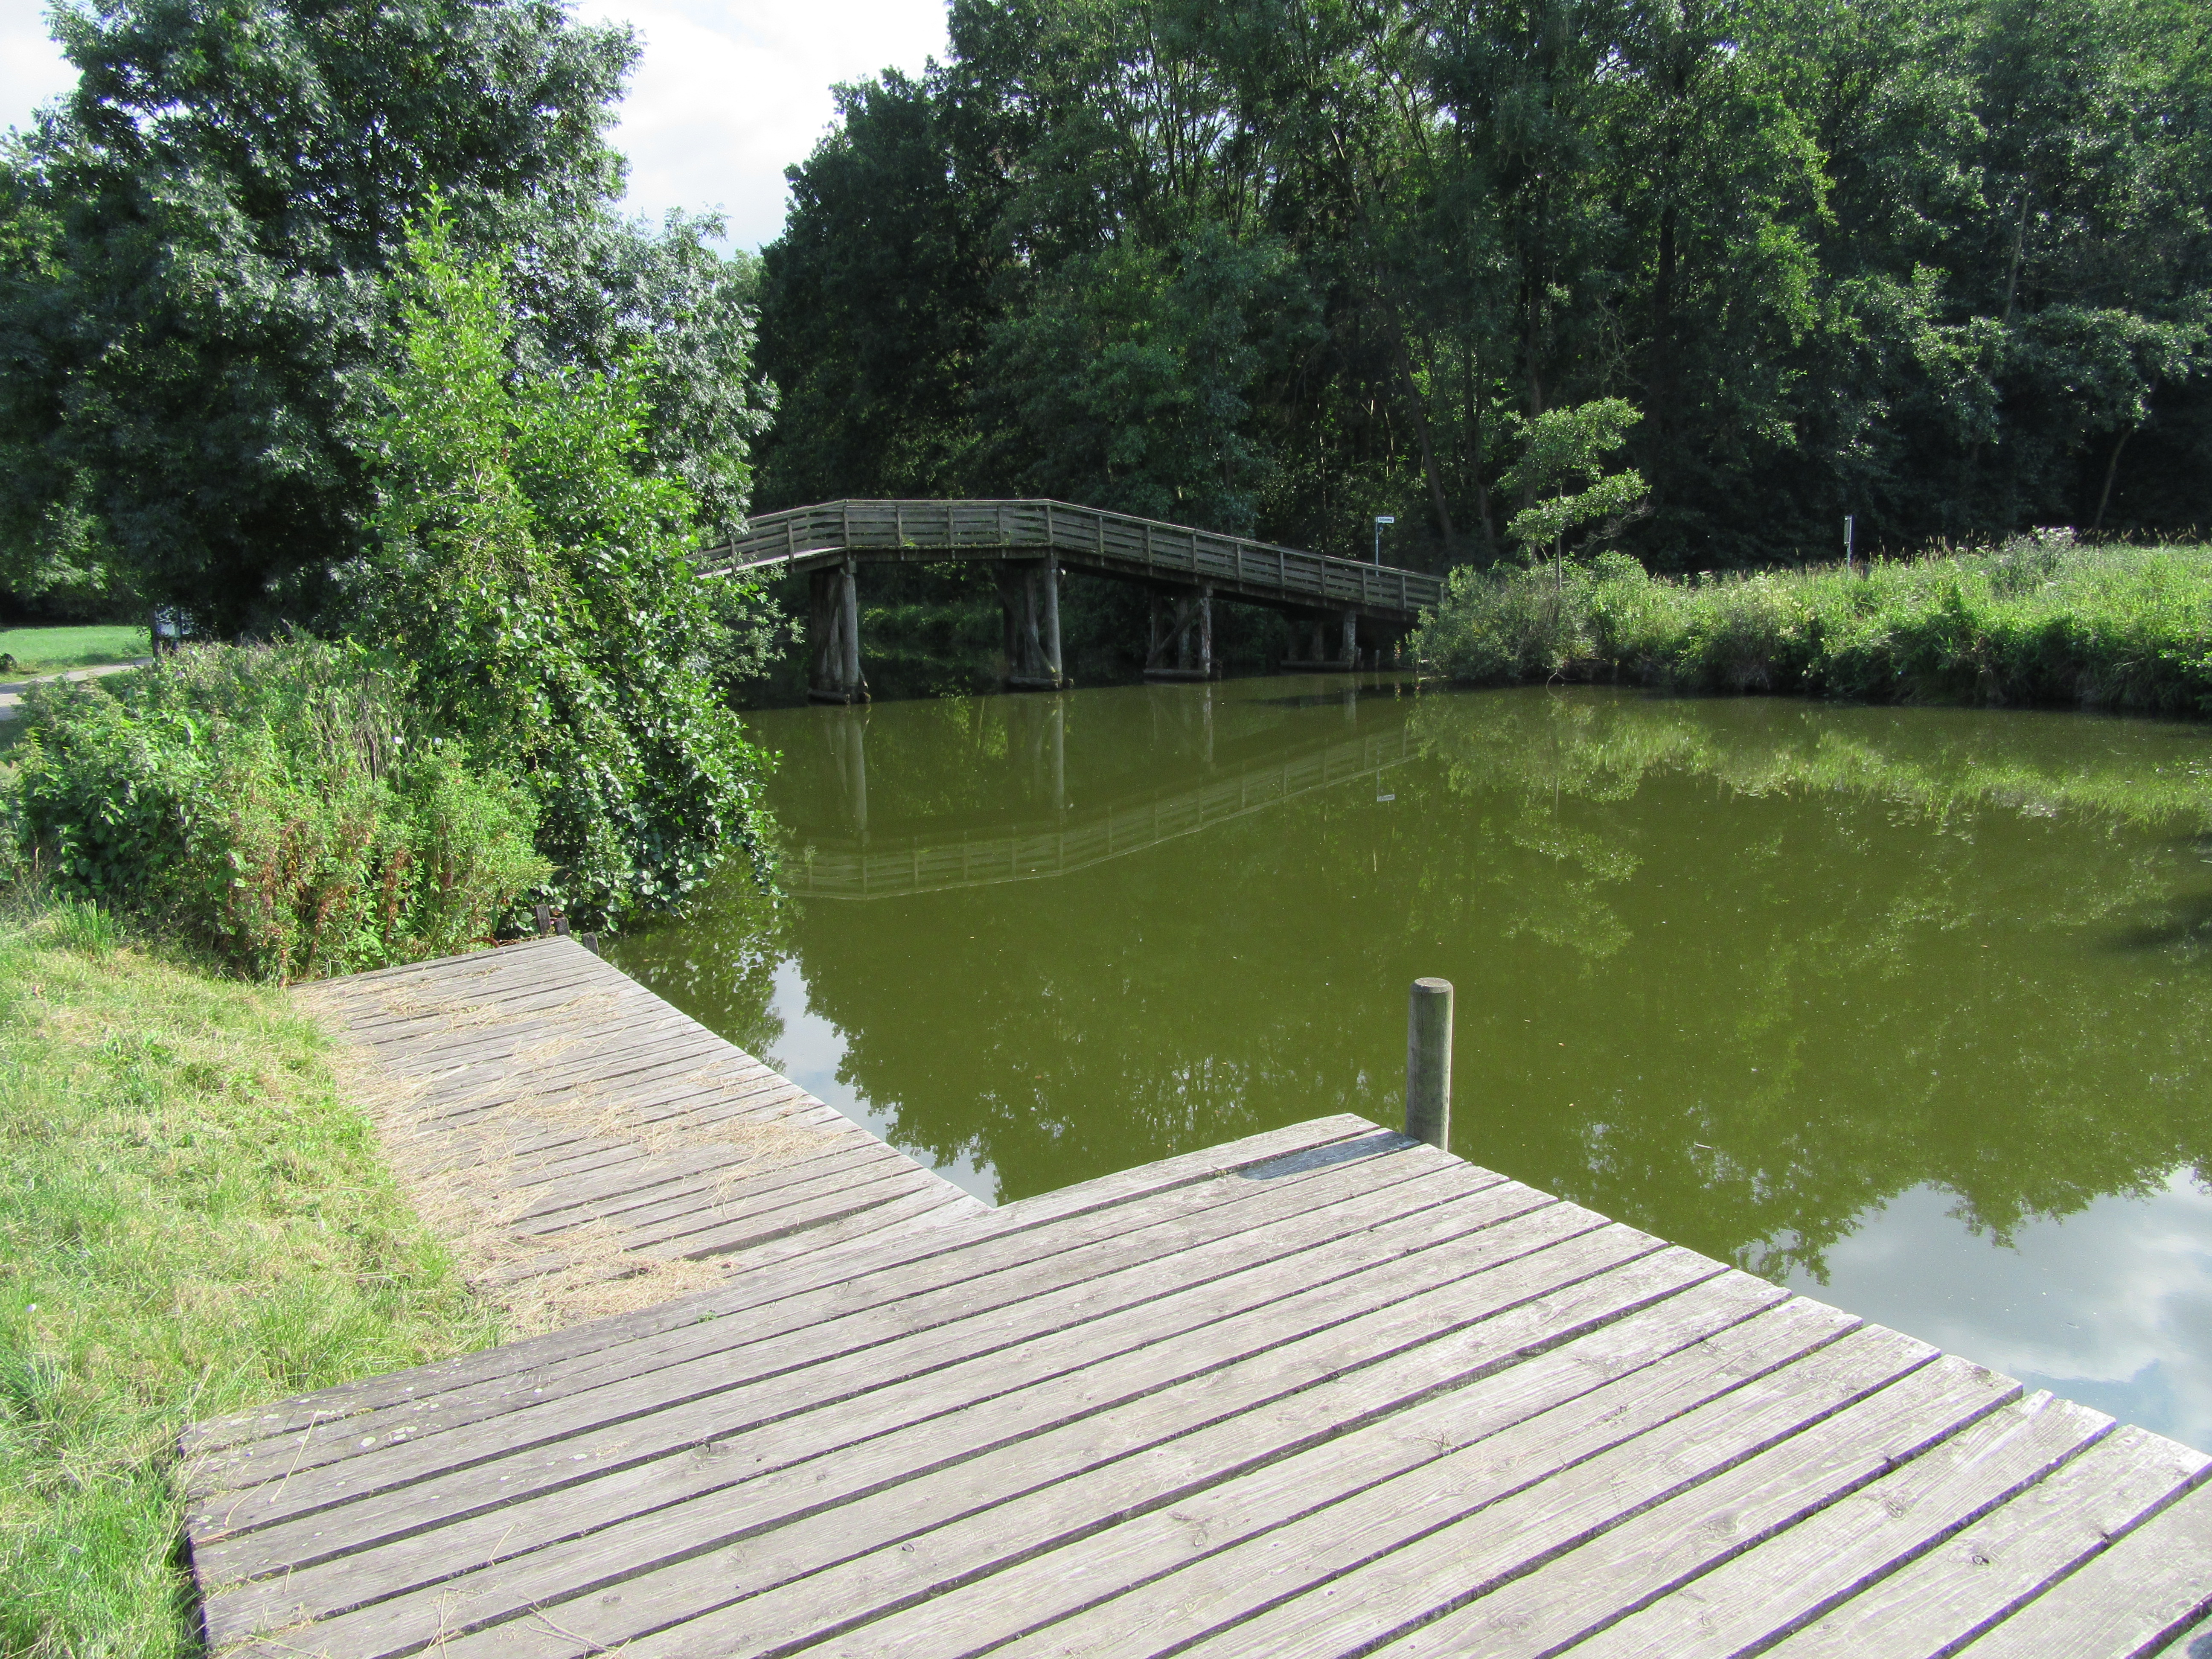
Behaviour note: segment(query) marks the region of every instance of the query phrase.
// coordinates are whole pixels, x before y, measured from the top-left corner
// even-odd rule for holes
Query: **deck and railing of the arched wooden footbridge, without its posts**
[[[701,568],[814,568],[856,560],[1042,557],[1077,571],[1168,586],[1208,584],[1225,599],[1290,611],[1356,611],[1411,624],[1442,599],[1442,577],[1241,535],[1194,531],[1073,502],[823,502],[761,513]]]

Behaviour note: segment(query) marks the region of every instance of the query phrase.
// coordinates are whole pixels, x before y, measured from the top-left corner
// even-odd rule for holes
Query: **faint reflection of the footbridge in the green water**
[[[1354,697],[1354,692],[1345,692],[1347,714]],[[1042,754],[1037,759],[1051,768],[1051,799],[1057,803],[1066,799],[1064,708],[1048,710],[1040,737]],[[867,834],[867,754],[858,714],[838,721],[834,748],[856,834],[849,841],[812,836],[792,847],[783,867],[783,887],[799,898],[898,898],[953,887],[1046,880],[1157,847],[1177,836],[1212,830],[1305,794],[1380,776],[1420,752],[1420,743],[1405,721],[1396,721],[1380,732],[1347,732],[1307,741],[1287,754],[1230,761],[1219,776],[1150,801],[1117,801],[1091,812],[1062,810],[1051,823],[995,832],[945,830],[874,841]]]

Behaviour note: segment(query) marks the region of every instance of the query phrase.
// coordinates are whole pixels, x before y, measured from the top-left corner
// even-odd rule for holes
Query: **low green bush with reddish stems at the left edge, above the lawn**
[[[24,697],[18,858],[257,978],[487,940],[544,880],[535,807],[361,646],[195,646]]]

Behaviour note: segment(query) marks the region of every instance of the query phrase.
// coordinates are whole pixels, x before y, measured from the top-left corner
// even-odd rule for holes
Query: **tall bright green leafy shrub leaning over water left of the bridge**
[[[352,626],[526,781],[544,891],[619,920],[761,845],[759,754],[717,688],[748,595],[695,577],[699,500],[646,462],[650,347],[611,372],[515,372],[513,312],[442,215],[414,232]]]

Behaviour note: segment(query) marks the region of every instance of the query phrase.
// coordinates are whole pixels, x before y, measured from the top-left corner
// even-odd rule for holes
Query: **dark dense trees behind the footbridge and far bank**
[[[765,254],[763,504],[1486,562],[1624,398],[1655,568],[2212,522],[2185,0],[953,0]]]

